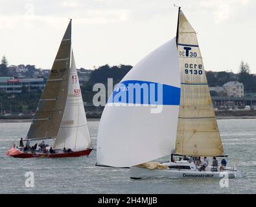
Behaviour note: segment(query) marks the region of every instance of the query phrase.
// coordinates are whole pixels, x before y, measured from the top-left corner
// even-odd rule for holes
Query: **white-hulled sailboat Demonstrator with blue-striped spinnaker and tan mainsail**
[[[191,160],[175,161],[175,155]],[[193,162],[199,157],[225,155],[196,32],[179,8],[176,38],[139,61],[109,98],[97,165],[130,168],[132,179],[237,176],[236,166],[201,168]]]

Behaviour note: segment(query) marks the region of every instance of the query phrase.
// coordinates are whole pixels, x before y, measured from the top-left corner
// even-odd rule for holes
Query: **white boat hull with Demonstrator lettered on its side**
[[[179,169],[147,169],[147,168],[130,168],[131,179],[143,179],[147,177],[167,177],[167,178],[185,178],[185,179],[222,179],[228,175],[229,179],[237,177],[236,172],[220,171],[194,171]],[[227,177],[226,177],[227,178]]]

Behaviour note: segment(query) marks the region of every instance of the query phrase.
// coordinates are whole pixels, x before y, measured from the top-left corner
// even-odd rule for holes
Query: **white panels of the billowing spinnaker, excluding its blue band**
[[[139,61],[121,82],[133,80],[166,84],[176,87],[180,93],[176,39]],[[173,98],[180,102],[180,94]],[[173,153],[179,105],[161,106],[161,113],[151,113],[150,104],[117,106],[108,103],[99,124],[97,163],[130,167]]]

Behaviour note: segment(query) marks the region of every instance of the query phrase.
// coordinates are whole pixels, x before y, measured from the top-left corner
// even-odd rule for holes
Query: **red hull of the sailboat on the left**
[[[89,155],[93,149],[84,149],[80,151],[72,151],[70,153],[55,153],[55,154],[49,154],[49,153],[24,153],[23,151],[20,151],[19,149],[16,149],[12,147],[8,151],[6,151],[6,155],[10,157],[16,157],[16,158],[32,158],[32,157],[38,157],[38,158],[58,158],[58,157],[80,157],[84,155]]]

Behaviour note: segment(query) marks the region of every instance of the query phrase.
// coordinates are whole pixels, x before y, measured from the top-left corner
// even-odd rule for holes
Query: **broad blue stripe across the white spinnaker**
[[[155,82],[126,80],[115,87],[108,103],[180,105],[180,88]]]

